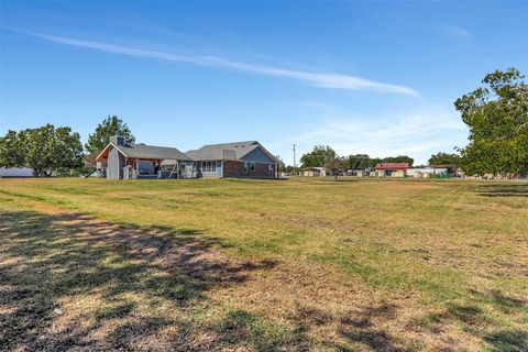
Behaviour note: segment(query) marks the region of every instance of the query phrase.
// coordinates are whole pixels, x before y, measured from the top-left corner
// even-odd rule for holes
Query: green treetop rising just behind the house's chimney
[[[88,142],[85,144],[86,151],[90,154],[99,154],[108,145],[112,135],[122,135],[129,143],[135,142],[135,138],[123,120],[117,116],[108,116],[97,125],[96,131],[88,136]]]

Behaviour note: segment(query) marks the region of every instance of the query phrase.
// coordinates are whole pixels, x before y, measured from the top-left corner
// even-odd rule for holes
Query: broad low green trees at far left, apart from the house
[[[0,139],[0,166],[30,167],[35,176],[82,165],[82,144],[70,128],[46,124],[38,129],[9,131]]]

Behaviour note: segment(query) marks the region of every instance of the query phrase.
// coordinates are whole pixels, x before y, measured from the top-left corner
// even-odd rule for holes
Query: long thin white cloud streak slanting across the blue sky
[[[257,65],[244,62],[231,61],[228,58],[219,56],[209,56],[209,55],[188,55],[188,54],[174,54],[160,51],[151,51],[138,47],[114,45],[102,42],[85,41],[77,38],[69,38],[64,36],[47,35],[41,33],[32,32],[21,32],[28,35],[36,36],[42,40],[77,46],[97,50],[107,53],[123,54],[139,57],[151,57],[157,59],[164,59],[169,62],[177,63],[187,63],[200,66],[209,67],[219,67],[228,68],[243,73],[250,73],[255,75],[272,76],[272,77],[283,77],[290,78],[304,84],[321,87],[321,88],[331,88],[331,89],[355,89],[355,90],[374,90],[381,92],[392,92],[400,95],[410,95],[414,97],[419,97],[419,94],[409,87],[386,84],[381,81],[375,81],[362,77],[350,76],[344,74],[334,74],[334,73],[316,73],[316,72],[306,72],[306,70],[295,70],[295,69],[285,69],[279,67]]]

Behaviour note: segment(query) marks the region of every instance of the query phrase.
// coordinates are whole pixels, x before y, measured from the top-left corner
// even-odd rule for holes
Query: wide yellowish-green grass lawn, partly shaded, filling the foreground
[[[528,184],[1,179],[0,349],[528,351]]]

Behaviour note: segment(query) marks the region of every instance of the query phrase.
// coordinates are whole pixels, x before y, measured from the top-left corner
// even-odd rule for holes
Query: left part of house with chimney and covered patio
[[[163,172],[162,163],[174,160],[172,170]],[[185,162],[191,158],[175,147],[154,146],[143,143],[127,143],[123,136],[110,138],[110,143],[96,157],[100,177],[123,178],[170,178],[179,177]]]

